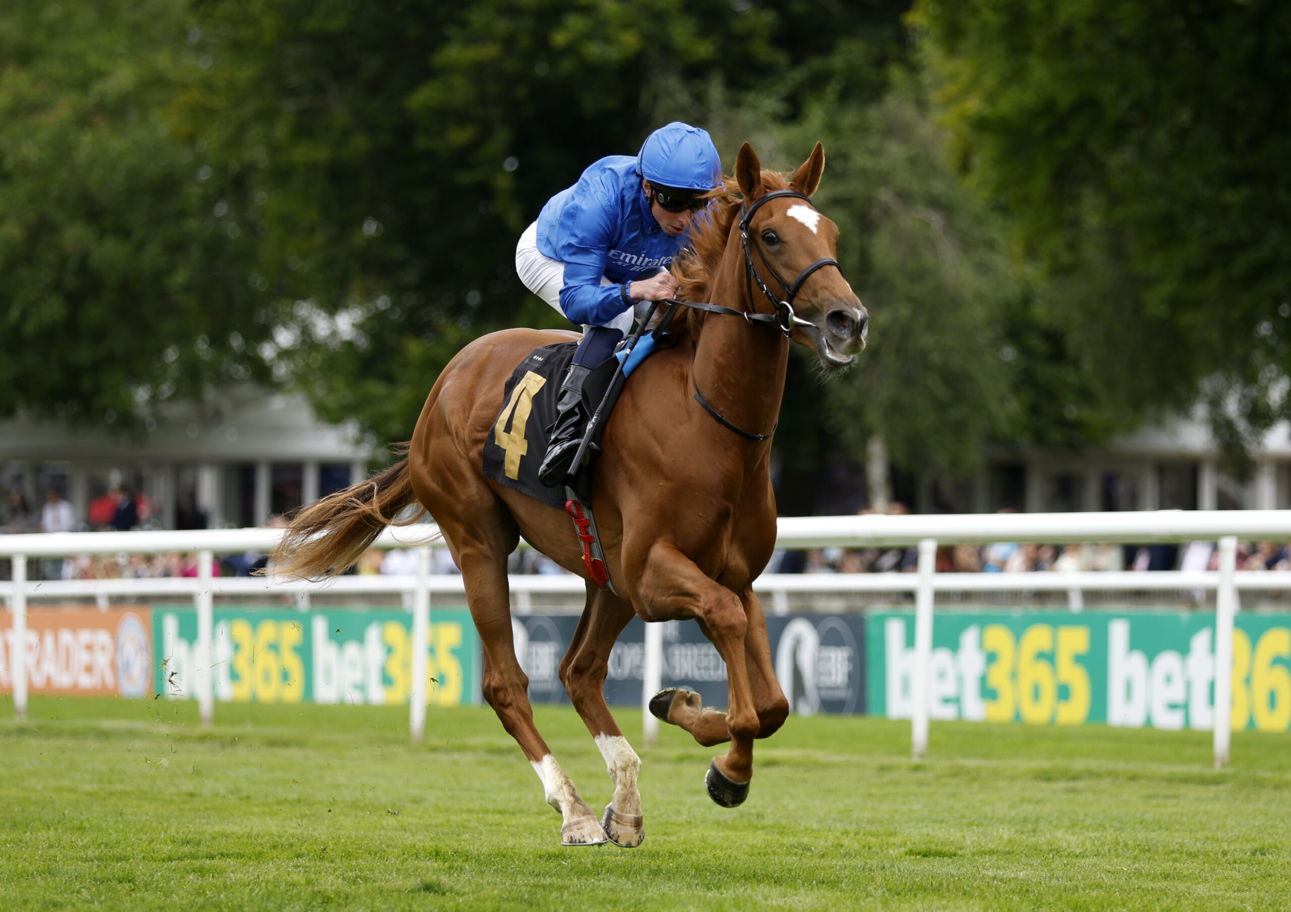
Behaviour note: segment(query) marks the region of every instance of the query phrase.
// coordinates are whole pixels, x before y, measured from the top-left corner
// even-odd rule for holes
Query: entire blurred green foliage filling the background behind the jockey
[[[257,379],[407,439],[467,341],[565,325],[513,266],[550,195],[684,119],[728,166],[826,147],[871,344],[825,384],[795,359],[786,470],[879,435],[954,476],[1198,393],[1241,453],[1291,357],[1286,13],[926,0],[939,126],[906,5],[5,8],[0,414],[125,424]]]

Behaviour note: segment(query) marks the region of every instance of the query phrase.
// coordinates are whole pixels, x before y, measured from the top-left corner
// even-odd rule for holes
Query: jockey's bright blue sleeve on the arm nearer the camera
[[[605,188],[590,188],[560,213],[556,254],[565,264],[560,310],[580,325],[600,326],[627,310],[618,285],[600,284],[618,228],[616,197]]]

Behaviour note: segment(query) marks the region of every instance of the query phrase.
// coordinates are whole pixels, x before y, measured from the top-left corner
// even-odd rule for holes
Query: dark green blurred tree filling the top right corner
[[[1291,6],[920,0],[959,168],[1117,411],[1198,396],[1242,462],[1291,373]]]

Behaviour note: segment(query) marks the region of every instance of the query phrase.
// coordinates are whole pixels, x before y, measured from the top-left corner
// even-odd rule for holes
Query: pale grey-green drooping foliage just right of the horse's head
[[[942,132],[917,81],[901,75],[871,103],[817,99],[790,125],[758,106],[715,120],[724,152],[747,137],[767,166],[794,168],[824,143],[815,201],[838,223],[843,275],[870,311],[870,343],[855,368],[824,383],[799,381],[815,408],[790,388],[797,405],[782,415],[782,455],[818,464],[821,449],[835,448],[864,459],[879,435],[904,470],[973,468],[981,445],[1017,423],[1004,313],[1024,283],[999,218],[942,159]],[[833,442],[817,439],[818,423],[831,427]]]

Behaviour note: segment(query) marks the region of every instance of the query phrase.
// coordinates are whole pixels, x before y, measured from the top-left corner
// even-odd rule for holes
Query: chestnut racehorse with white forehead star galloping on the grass
[[[649,623],[693,619],[726,660],[727,712],[679,690],[651,703],[700,744],[731,742],[706,777],[718,804],[744,800],[754,738],[771,735],[789,715],[753,593],[776,540],[771,432],[789,338],[815,348],[824,366],[839,368],[864,348],[868,322],[833,261],[838,227],[807,200],[824,168],[820,143],[788,182],[763,172],[747,143],[740,148],[735,177],[714,191],[709,218],[692,227],[691,249],[673,267],[678,297],[704,302],[704,310],[679,308],[670,326],[678,343],[636,368],[605,424],[593,503],[613,592],[587,583],[560,663],[560,681],[615,783],[603,819],[578,797],[533,725],[506,579],[507,555],[522,535],[586,578],[581,546],[563,511],[482,473],[484,440],[515,365],[534,348],[577,335],[511,329],[471,342],[430,391],[407,459],[305,510],[283,540],[279,560],[288,573],[337,573],[404,508],[420,503],[430,512],[462,570],[484,649],[484,699],[533,765],[547,804],[560,811],[564,845],[636,846],[644,838],[640,760],[603,694],[609,650],[634,615]],[[773,283],[788,302],[797,293],[797,306],[772,294]]]

